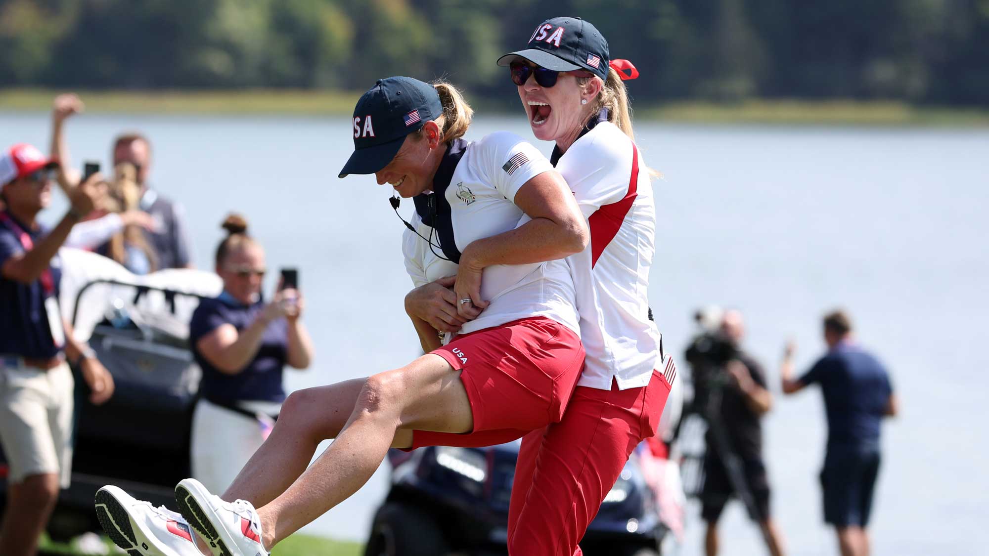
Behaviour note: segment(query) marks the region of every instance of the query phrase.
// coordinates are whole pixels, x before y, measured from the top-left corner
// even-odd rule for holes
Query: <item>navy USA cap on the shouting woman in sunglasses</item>
[[[597,28],[581,18],[553,18],[539,24],[524,50],[509,52],[497,59],[508,65],[523,57],[546,69],[573,71],[585,69],[601,79],[608,78],[611,56],[608,42]]]

